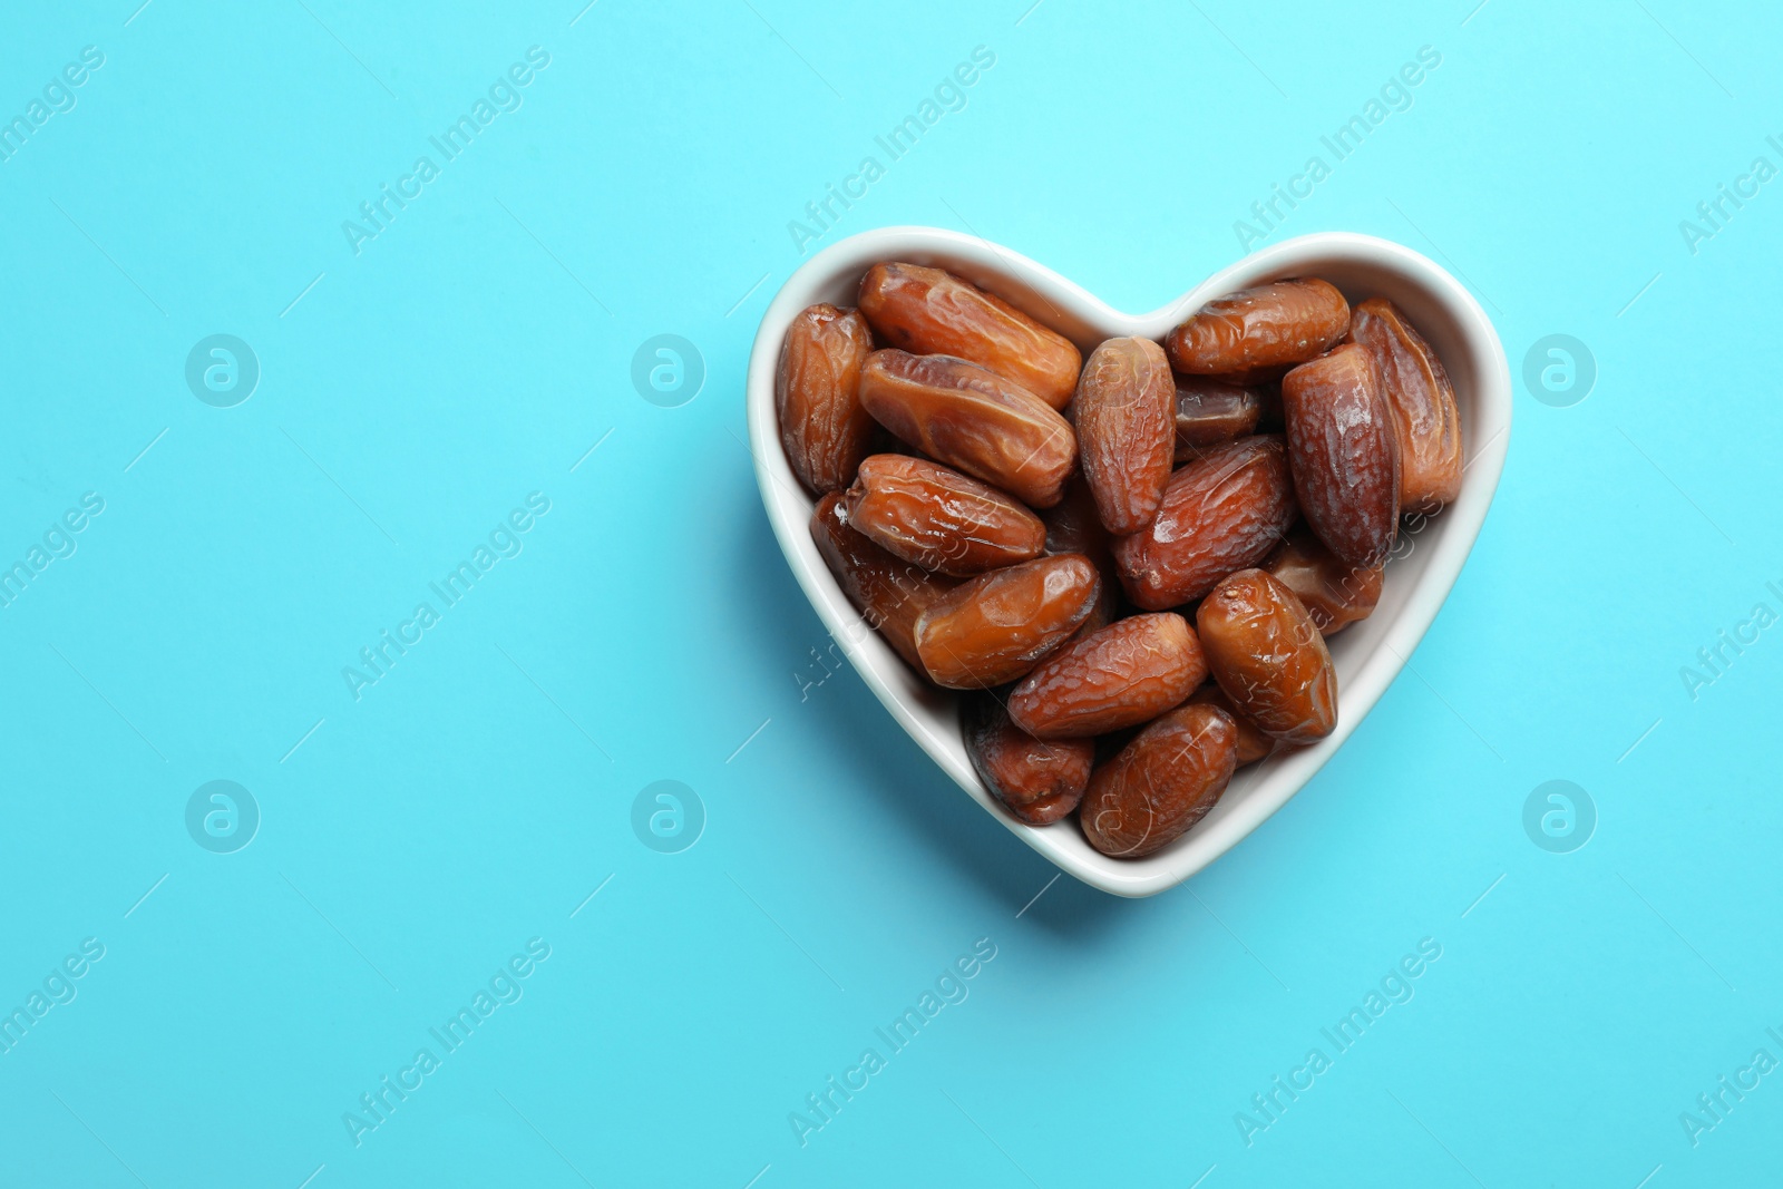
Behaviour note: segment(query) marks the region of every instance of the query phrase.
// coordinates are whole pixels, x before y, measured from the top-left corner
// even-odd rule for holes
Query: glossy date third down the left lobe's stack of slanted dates
[[[1047,547],[1039,517],[995,487],[904,455],[861,462],[842,508],[849,528],[941,574],[982,574]]]

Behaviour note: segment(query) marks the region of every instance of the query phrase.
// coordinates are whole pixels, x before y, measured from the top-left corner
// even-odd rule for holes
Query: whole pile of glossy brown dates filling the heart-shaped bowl
[[[776,376],[842,590],[934,685],[1029,825],[1152,854],[1232,772],[1337,726],[1325,636],[1380,599],[1400,515],[1460,492],[1442,362],[1318,278],[1079,348],[934,267],[813,305]]]

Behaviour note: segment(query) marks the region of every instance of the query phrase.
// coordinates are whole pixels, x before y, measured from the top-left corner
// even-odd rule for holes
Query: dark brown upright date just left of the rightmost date
[[[1385,562],[1400,528],[1400,442],[1368,348],[1346,342],[1287,373],[1282,415],[1307,524],[1344,565]]]

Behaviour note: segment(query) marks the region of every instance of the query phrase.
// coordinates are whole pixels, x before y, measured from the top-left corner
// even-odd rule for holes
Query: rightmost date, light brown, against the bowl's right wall
[[[1405,314],[1385,298],[1355,307],[1350,339],[1368,348],[1400,440],[1400,508],[1430,513],[1460,496],[1462,440],[1455,385]]]

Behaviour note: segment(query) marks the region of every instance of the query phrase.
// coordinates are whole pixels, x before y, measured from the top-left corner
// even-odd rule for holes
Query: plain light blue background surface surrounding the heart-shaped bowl
[[[0,162],[0,562],[105,499],[0,610],[0,1007],[105,947],[0,1055],[0,1182],[1776,1173],[1783,1075],[1680,1123],[1783,1059],[1779,631],[1680,677],[1783,611],[1783,184],[1696,253],[1678,228],[1783,166],[1772,14],[581,2],[0,16],[5,118],[105,55]],[[524,105],[355,255],[341,223],[533,45]],[[1048,884],[845,667],[801,690],[826,636],[742,444],[786,223],[981,45],[965,111],[820,244],[954,226],[1152,308],[1428,45],[1269,242],[1407,242],[1519,376],[1549,333],[1598,364],[1571,408],[1519,380],[1475,554],[1337,759],[1145,902]],[[210,333],[259,355],[241,406],[185,387]],[[704,357],[679,408],[629,380],[656,333]],[[355,701],[341,668],[530,492],[524,551]],[[184,825],[212,779],[260,806],[235,854]],[[631,829],[658,779],[704,802],[681,854]],[[1596,800],[1574,854],[1524,834],[1549,779]],[[530,938],[524,996],[355,1146],[342,1114]],[[801,1148],[788,1112],[981,938],[970,998]],[[1416,998],[1246,1146],[1234,1114],[1423,938]]]

